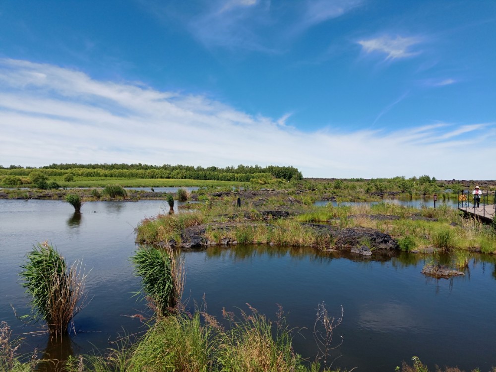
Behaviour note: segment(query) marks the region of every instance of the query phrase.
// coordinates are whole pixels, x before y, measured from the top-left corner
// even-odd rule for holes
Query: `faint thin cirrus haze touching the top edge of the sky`
[[[153,0],[143,0],[153,1]],[[156,15],[171,14],[207,48],[281,53],[294,37],[324,21],[340,17],[364,0],[200,1],[194,13],[150,2]]]

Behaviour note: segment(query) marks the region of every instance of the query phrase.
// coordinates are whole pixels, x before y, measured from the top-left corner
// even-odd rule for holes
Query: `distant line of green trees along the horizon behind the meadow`
[[[193,167],[187,165],[162,166],[147,164],[52,164],[45,167],[21,167],[11,165],[8,168],[0,166],[1,176],[29,176],[33,171],[39,171],[48,177],[72,174],[75,177],[103,177],[128,179],[180,179],[180,180],[213,180],[250,182],[256,179],[302,180],[302,173],[295,167],[280,167],[258,165],[238,167]]]

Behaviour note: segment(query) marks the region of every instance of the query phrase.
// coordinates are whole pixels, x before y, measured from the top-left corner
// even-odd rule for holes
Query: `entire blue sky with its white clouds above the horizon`
[[[0,164],[495,179],[495,62],[494,0],[4,0]]]

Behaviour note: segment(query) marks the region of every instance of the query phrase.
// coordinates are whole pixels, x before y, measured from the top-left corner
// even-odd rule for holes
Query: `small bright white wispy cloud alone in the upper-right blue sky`
[[[412,52],[411,47],[420,42],[421,39],[417,37],[396,36],[392,38],[389,35],[384,35],[374,39],[359,40],[358,44],[367,53],[379,52],[386,54],[386,60],[395,60],[418,55],[420,52]]]

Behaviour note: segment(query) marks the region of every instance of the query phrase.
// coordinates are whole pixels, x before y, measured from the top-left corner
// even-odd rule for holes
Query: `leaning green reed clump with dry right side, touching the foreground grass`
[[[141,277],[143,295],[161,317],[178,308],[184,290],[185,268],[181,256],[171,249],[139,247],[131,257],[135,272]]]

